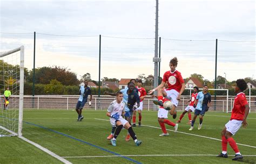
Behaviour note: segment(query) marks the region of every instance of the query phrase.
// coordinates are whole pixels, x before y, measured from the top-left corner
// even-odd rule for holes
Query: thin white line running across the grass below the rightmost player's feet
[[[105,158],[105,157],[123,157],[123,156],[217,156],[216,154],[143,154],[143,155],[99,155],[99,156],[62,156],[62,158]],[[256,155],[242,155],[256,156]]]

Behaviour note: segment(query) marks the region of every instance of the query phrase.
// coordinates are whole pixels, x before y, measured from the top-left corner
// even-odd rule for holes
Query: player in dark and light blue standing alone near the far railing
[[[80,86],[80,90],[79,90],[79,99],[77,102],[77,106],[76,106],[76,111],[78,113],[78,121],[82,121],[82,119],[84,119],[84,117],[82,116],[82,110],[84,108],[85,103],[87,102],[87,98],[90,95],[90,101],[89,101],[89,106],[91,106],[91,101],[92,101],[92,92],[91,92],[91,88],[89,88],[88,86],[88,81],[85,80],[84,83],[81,84]]]

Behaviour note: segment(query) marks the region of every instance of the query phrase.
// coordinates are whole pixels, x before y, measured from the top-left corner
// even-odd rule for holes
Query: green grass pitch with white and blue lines
[[[106,111],[84,110],[83,121],[77,122],[73,110],[24,110],[23,136],[72,163],[241,163],[231,160],[234,152],[230,145],[227,159],[215,157],[221,152],[220,132],[230,115],[207,112],[202,129],[197,130],[197,118],[193,131],[188,131],[190,125],[186,124],[185,115],[177,133],[169,131],[170,136],[159,137],[157,111],[143,111],[145,126],[133,127],[142,145],[135,146],[132,139],[126,142],[127,130],[123,129],[117,146],[113,147],[106,139],[111,132]],[[173,120],[169,115],[172,122],[178,117]],[[247,122],[247,129],[241,128],[234,139],[244,144],[238,145],[245,155],[243,162],[255,163],[256,113],[249,113]],[[173,127],[166,125],[166,129],[173,130]],[[18,137],[1,137],[0,147],[0,163],[62,163]]]

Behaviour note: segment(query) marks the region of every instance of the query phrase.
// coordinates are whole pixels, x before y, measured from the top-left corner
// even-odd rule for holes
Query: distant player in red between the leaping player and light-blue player
[[[187,105],[185,111],[180,115],[179,120],[177,120],[177,123],[180,123],[181,119],[184,117],[184,115],[187,112],[187,116],[189,119],[189,122],[187,124],[191,124],[191,112],[194,112],[194,108],[196,108],[196,105],[194,104],[194,102],[196,101],[197,98],[197,92],[198,92],[199,88],[198,87],[194,87],[194,92],[191,94],[191,98],[188,102],[190,102],[189,105]]]

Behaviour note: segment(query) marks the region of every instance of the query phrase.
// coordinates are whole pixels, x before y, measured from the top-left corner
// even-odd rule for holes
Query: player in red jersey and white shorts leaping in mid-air
[[[170,61],[170,68],[171,70],[164,73],[163,81],[157,88],[154,88],[148,92],[151,95],[155,90],[157,90],[158,101],[153,101],[154,104],[163,106],[163,99],[164,97],[171,99],[173,104],[172,109],[170,110],[170,114],[173,115],[172,117],[175,119],[177,117],[176,108],[178,106],[178,102],[180,100],[180,95],[183,93],[185,89],[185,83],[181,76],[181,73],[176,70],[178,65],[177,58],[173,58]],[[163,90],[165,83],[168,83],[168,88]]]

